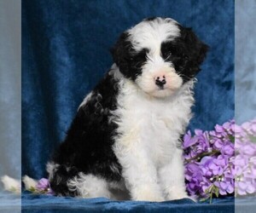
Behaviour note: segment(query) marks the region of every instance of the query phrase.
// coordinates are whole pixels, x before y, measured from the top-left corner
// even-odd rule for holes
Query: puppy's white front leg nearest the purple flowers
[[[160,184],[167,200],[189,198],[186,193],[183,168],[182,150],[177,148],[170,162],[162,166],[159,171]]]

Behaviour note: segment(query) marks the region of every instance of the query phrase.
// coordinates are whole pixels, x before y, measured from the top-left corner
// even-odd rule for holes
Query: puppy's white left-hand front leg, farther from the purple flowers
[[[140,141],[121,141],[114,152],[133,200],[163,201],[157,171]]]

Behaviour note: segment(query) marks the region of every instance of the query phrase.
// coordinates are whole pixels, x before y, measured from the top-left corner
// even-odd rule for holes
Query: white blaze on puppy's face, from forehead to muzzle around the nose
[[[177,22],[172,19],[143,21],[131,28],[130,40],[133,49],[148,49],[147,60],[142,67],[142,74],[136,79],[139,88],[148,95],[165,97],[172,95],[182,86],[183,79],[177,75],[172,63],[161,57],[161,43],[172,41],[180,35]],[[157,85],[156,79],[165,78],[163,86]]]

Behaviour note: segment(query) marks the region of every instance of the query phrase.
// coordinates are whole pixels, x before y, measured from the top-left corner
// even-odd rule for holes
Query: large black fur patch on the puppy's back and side
[[[117,83],[108,72],[86,104],[79,108],[65,141],[52,158],[55,164],[60,164],[50,180],[56,194],[75,196],[77,192],[68,191],[67,181],[79,172],[107,181],[121,179],[121,165],[112,149],[117,126],[108,120],[110,111],[116,109]],[[117,170],[111,170],[111,166]]]

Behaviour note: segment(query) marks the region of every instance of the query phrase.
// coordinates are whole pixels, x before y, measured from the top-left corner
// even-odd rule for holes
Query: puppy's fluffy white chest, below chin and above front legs
[[[190,118],[191,98],[177,95],[156,99],[144,95],[131,84],[123,86],[118,97],[119,143],[146,150],[155,164],[172,158],[178,140]]]

